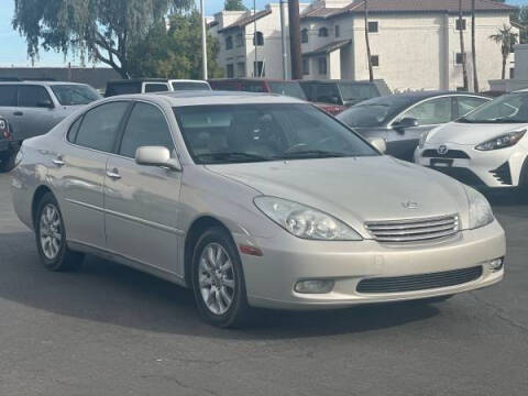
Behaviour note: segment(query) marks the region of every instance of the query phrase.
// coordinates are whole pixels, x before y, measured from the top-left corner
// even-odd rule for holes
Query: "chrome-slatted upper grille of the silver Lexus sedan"
[[[460,231],[457,215],[410,220],[370,221],[366,230],[380,242],[427,241],[452,235]]]

